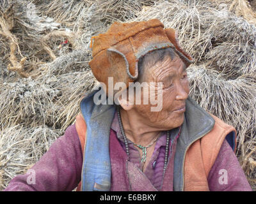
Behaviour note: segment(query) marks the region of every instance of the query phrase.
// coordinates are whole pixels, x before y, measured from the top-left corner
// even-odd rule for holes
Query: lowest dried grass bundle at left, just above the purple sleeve
[[[15,175],[26,173],[61,134],[47,126],[0,128],[0,191]]]

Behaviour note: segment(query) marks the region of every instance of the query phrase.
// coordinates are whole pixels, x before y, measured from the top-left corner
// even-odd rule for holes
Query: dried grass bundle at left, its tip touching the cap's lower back
[[[29,127],[47,124],[67,128],[79,112],[77,102],[93,85],[94,77],[88,70],[42,80],[29,77],[4,82],[0,84],[4,98],[0,101],[1,127],[22,123]]]

